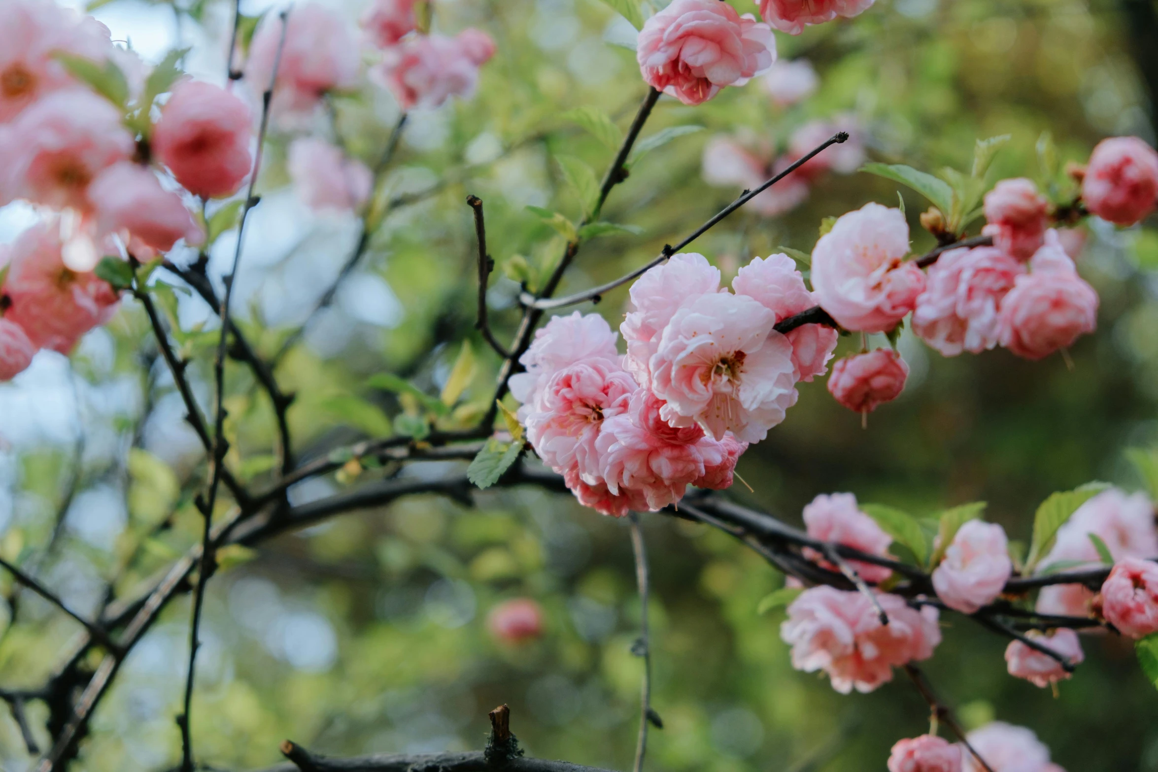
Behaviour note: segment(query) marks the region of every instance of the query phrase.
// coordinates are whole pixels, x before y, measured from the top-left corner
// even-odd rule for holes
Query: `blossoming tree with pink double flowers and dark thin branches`
[[[616,188],[645,153],[659,154],[696,128],[652,132],[653,115],[695,115],[739,89],[762,88],[777,109],[805,100],[822,79],[806,63],[777,61],[775,31],[853,29],[874,13],[872,0],[608,5],[621,29],[638,30],[633,82],[642,101],[618,118],[594,104],[566,113],[603,147],[604,169],[547,144],[570,206],[532,204],[519,215],[541,220],[530,241],[540,252],[555,251],[545,260],[505,260],[511,278],[503,280],[503,301],[492,288],[491,250],[507,228],[494,227],[494,199],[486,192],[484,203],[470,182],[474,167],[488,161],[462,161],[417,188],[390,176],[404,134],[422,131],[423,116],[457,102],[469,118],[488,68],[519,67],[518,52],[484,30],[485,14],[477,25],[452,25],[430,0],[374,0],[356,31],[317,2],[259,19],[237,5],[223,17],[223,72],[207,79],[186,73],[186,49],[146,65],[91,16],[49,0],[0,0],[7,43],[0,51],[0,204],[25,206],[31,218],[2,253],[0,377],[19,382],[37,352],[69,354],[101,325],[135,323],[133,353],[154,352],[145,365],[148,399],[164,390],[179,400],[198,446],[178,481],[133,439],[130,473],[164,487],[166,501],[118,545],[91,609],[78,611],[38,575],[59,524],[43,550],[6,547],[0,558],[13,618],[16,598],[34,594],[82,631],[56,653],[59,662],[43,683],[0,684],[28,755],[38,757],[35,769],[83,758],[94,716],[122,670],[185,595],[176,763],[183,772],[213,769],[200,750],[197,727],[208,718],[196,709],[195,694],[214,574],[279,535],[423,494],[469,507],[488,495],[479,491],[541,488],[551,501],[573,498],[592,519],[628,519],[642,608],[632,652],[644,662],[637,772],[648,726],[664,726],[651,699],[652,660],[664,648],[653,647],[647,632],[640,524],[647,513],[717,529],[785,575],[760,606],[762,613],[783,608],[779,635],[793,668],[822,672],[842,694],[872,692],[897,672],[911,681],[930,722],[926,731],[915,727],[914,736],[896,737],[891,756],[874,762],[891,772],[1061,769],[1027,728],[990,721],[967,730],[930,683],[917,663],[954,634],[948,623],[957,618],[1001,639],[1007,674],[1038,688],[1056,691],[1098,635],[1134,641],[1141,672],[1158,682],[1158,529],[1146,494],[1079,485],[1050,495],[1032,522],[1007,535],[984,520],[984,502],[945,502],[918,517],[849,492],[815,492],[804,528],[796,528],[728,493],[742,483],[741,457],[791,420],[801,394],[819,391],[821,378],[864,425],[897,399],[911,375],[902,331],[944,358],[1001,347],[1033,362],[1068,358],[1083,336],[1098,334],[1099,293],[1079,270],[1082,228],[1094,219],[1112,234],[1150,216],[1158,207],[1158,153],[1137,137],[1111,137],[1084,162],[1061,167],[1043,137],[1040,169],[1026,164],[1018,176],[995,179],[995,159],[1010,137],[979,139],[968,169],[935,175],[866,162],[871,134],[850,115],[805,124],[780,144],[754,132],[721,133],[704,146],[704,182],[742,192],[702,225],[666,227],[657,236],[668,243],[651,260],[593,286],[579,272],[584,252],[598,248],[596,240],[638,235],[606,219]],[[204,9],[175,5],[174,12],[204,21]],[[749,83],[757,78],[761,84]],[[504,83],[497,76],[488,84],[500,90]],[[393,110],[389,120],[383,103]],[[858,170],[903,188],[900,206],[862,201],[818,223],[811,249],[752,255],[745,247],[731,270],[691,251],[719,223],[779,216],[831,175]],[[255,247],[247,223],[286,183],[303,207],[346,218],[357,234],[335,281],[298,323],[262,324],[244,314],[235,285]],[[444,340],[457,354],[446,362],[440,394],[403,368],[382,368],[367,381],[391,414],[351,394],[318,402],[300,370],[287,387],[287,361],[308,345],[312,323],[343,282],[358,281],[352,274],[394,227],[391,215],[463,183],[469,194],[459,215],[470,229],[457,235],[469,238],[423,245],[469,249],[476,280],[472,330]],[[918,200],[925,211],[910,215],[907,201]],[[497,208],[506,223],[507,203]],[[932,244],[926,250],[913,248],[916,223]],[[560,294],[564,287],[572,294]],[[620,287],[628,303],[616,332],[589,304]],[[192,303],[206,316],[190,324],[182,311]],[[836,356],[842,339],[846,351]],[[488,367],[493,378],[484,375]],[[318,378],[313,385],[330,384]],[[312,426],[301,453],[300,429],[317,410],[364,436],[346,442]],[[1144,476],[1158,478],[1153,453],[1136,459]],[[299,495],[322,480],[343,490]],[[133,507],[141,501],[135,494],[140,486],[130,491]],[[176,542],[160,542],[174,530]],[[161,563],[159,544],[171,552]],[[662,560],[653,549],[652,564]],[[530,597],[508,597],[493,604],[486,627],[518,647],[544,634],[547,616]],[[400,656],[411,654],[418,653]],[[281,751],[303,772],[587,769],[523,756],[507,708],[490,718],[485,751],[351,760],[288,741]]]

